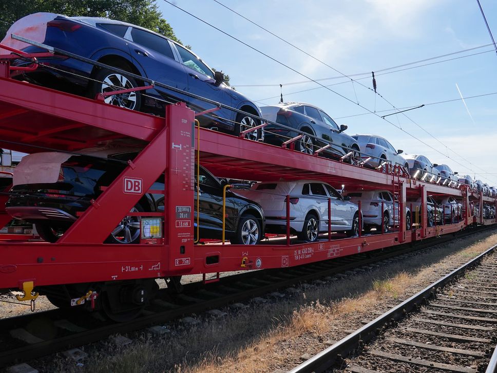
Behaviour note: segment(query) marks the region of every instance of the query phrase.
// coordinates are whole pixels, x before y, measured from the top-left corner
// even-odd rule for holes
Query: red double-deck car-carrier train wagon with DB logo
[[[153,296],[156,278],[174,283],[175,278],[189,274],[217,273],[218,278],[224,271],[293,267],[413,243],[474,223],[495,223],[495,218],[483,218],[483,203],[495,204],[495,199],[474,194],[466,185],[448,188],[412,179],[402,167],[379,172],[303,154],[290,149],[292,139],[278,147],[243,134],[236,137],[196,127],[194,111],[183,103],[167,105],[161,118],[14,80],[10,59],[0,56],[2,147],[25,153],[49,149],[75,154],[102,142],[143,148],[56,243],[7,239],[0,243],[0,289],[22,290],[19,300],[33,301],[41,293],[61,307],[86,303],[124,320]],[[282,239],[260,245],[195,244],[195,162],[218,177],[305,178],[345,184],[349,190],[386,189],[398,198],[398,229],[384,234],[359,229],[357,236],[343,238],[332,234],[329,226],[328,235],[312,243],[295,241],[288,231]],[[162,174],[164,190],[150,190]],[[164,194],[164,211],[130,213],[146,193]],[[427,195],[461,200],[463,209],[457,215],[462,219],[428,227]],[[407,198],[418,197],[420,221],[406,230]],[[8,194],[0,197],[2,226],[11,219],[3,208],[7,198]],[[479,216],[472,214],[474,204],[479,204]],[[140,244],[105,244],[109,232],[129,215],[142,216]]]

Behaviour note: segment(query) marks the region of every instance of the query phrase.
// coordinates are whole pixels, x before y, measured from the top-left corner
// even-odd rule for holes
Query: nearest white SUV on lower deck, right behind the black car
[[[290,196],[290,230],[299,239],[317,240],[319,232],[328,232],[328,200],[331,199],[331,230],[359,233],[357,204],[342,197],[330,184],[318,180],[270,181],[252,185],[251,190],[236,194],[257,201],[264,211],[266,232],[286,232],[286,196]]]

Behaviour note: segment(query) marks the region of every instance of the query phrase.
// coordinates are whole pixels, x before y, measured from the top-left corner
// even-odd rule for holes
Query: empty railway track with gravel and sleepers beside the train
[[[495,372],[496,295],[494,246],[291,372]]]

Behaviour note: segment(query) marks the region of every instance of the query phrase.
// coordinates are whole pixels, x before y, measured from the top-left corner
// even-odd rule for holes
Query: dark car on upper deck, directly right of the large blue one
[[[319,148],[331,144],[321,155],[339,158],[353,152],[347,160],[360,160],[357,140],[343,133],[347,126],[338,126],[328,114],[316,106],[300,102],[283,103],[262,106],[261,111],[265,119],[284,125],[267,125],[264,128],[264,142],[281,145],[283,141],[299,135],[300,133],[292,130],[298,129],[304,134],[295,142],[295,150],[314,154]]]

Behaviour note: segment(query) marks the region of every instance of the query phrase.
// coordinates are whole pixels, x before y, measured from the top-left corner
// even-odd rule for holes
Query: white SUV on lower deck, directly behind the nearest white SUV
[[[398,225],[399,207],[398,201],[395,200],[391,192],[386,190],[378,191],[348,191],[347,196],[354,203],[361,201],[362,223],[364,230],[370,231],[376,228],[381,231],[381,202],[383,202],[383,227],[387,233],[391,226]],[[411,211],[406,206],[406,230],[411,229]]]

